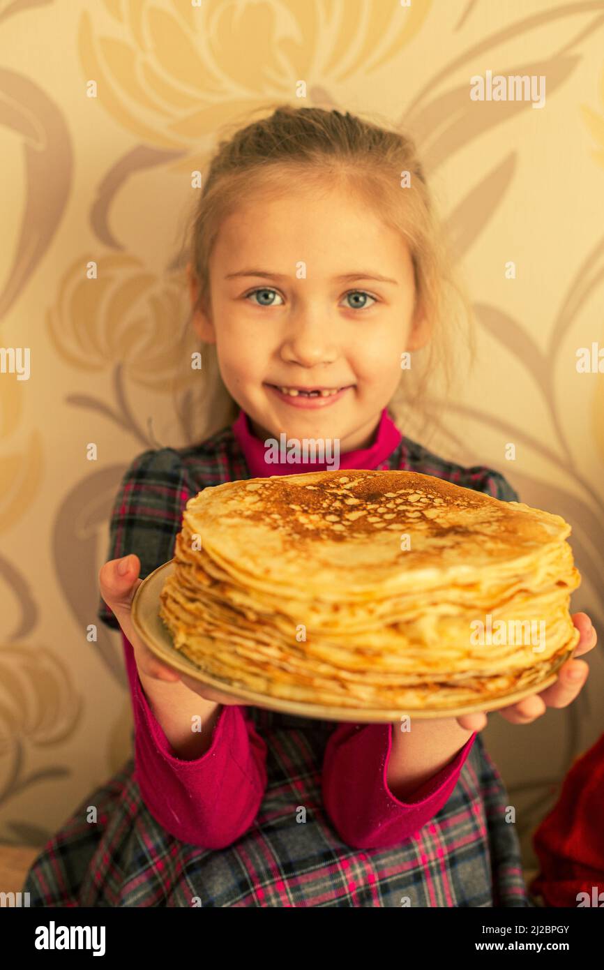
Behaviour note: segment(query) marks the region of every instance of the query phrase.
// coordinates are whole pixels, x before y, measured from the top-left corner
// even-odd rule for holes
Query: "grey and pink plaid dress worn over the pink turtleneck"
[[[497,471],[444,461],[403,436],[379,469],[436,475],[503,501],[518,496]],[[141,577],[173,557],[186,502],[203,488],[250,478],[231,428],[202,444],[143,452],[111,514],[109,559],[136,553]],[[101,599],[99,618],[118,624]],[[321,799],[334,722],[250,707],[267,744],[266,792],[236,842],[207,850],[179,841],[146,808],[134,758],[91,792],[48,841],[23,886],[31,906],[534,905],[509,799],[480,733],[440,811],[400,845],[356,849],[338,837]],[[98,821],[86,821],[86,807]],[[306,822],[297,821],[297,807]]]

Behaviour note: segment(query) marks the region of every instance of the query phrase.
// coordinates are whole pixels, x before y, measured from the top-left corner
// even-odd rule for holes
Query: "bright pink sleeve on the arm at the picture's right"
[[[399,801],[386,782],[390,724],[343,724],[330,736],[323,761],[323,804],[341,840],[355,849],[384,849],[419,831],[453,792],[476,732],[450,764]]]

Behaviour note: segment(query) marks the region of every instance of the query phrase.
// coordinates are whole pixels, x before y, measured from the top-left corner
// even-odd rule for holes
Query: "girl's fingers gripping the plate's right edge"
[[[527,725],[531,721],[545,714],[547,707],[566,707],[579,694],[588,679],[589,667],[585,661],[576,661],[575,657],[587,654],[597,643],[597,633],[591,626],[587,613],[574,613],[572,621],[581,633],[579,643],[575,647],[573,656],[563,663],[559,670],[558,679],[551,687],[541,694],[531,694],[516,704],[501,707],[497,711],[506,721],[513,725]],[[487,727],[487,714],[464,714],[457,721],[467,730],[482,730]]]

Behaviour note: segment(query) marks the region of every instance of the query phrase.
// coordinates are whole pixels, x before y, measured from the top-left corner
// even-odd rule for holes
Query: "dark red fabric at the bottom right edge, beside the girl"
[[[604,906],[603,810],[604,734],[574,762],[533,835],[540,871],[529,889],[546,906]],[[589,901],[578,898],[581,892]]]

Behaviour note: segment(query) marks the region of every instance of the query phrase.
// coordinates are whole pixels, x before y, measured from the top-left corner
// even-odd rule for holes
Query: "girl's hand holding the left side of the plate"
[[[119,572],[119,567],[124,569]],[[143,582],[139,579],[141,571],[141,561],[135,553],[125,556],[123,559],[111,559],[99,572],[99,586],[101,596],[115,614],[119,626],[123,630],[126,638],[130,640],[134,648],[134,656],[139,670],[139,676],[148,677],[152,680],[181,681],[185,687],[195,694],[199,694],[206,700],[214,701],[217,704],[241,704],[242,701],[230,695],[220,694],[206,687],[200,681],[186,674],[178,673],[167,663],[162,663],[139,638],[132,623],[132,600],[139,586]]]

